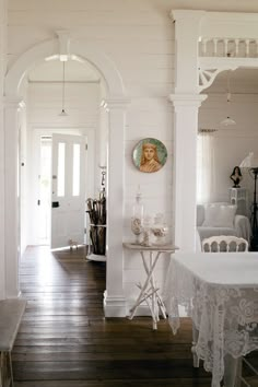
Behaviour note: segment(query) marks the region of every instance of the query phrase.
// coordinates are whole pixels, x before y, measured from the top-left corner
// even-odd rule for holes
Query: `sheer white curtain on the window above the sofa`
[[[214,188],[214,130],[203,129],[198,134],[197,148],[197,202],[212,201]]]

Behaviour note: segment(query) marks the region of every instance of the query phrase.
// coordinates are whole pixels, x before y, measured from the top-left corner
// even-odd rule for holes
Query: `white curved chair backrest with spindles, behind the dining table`
[[[210,236],[201,243],[203,253],[248,251],[248,242],[233,235]]]

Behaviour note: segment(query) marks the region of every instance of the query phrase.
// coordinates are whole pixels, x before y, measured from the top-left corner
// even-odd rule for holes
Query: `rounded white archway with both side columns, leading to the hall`
[[[60,36],[31,48],[17,58],[5,77],[5,296],[19,295],[19,201],[17,155],[19,119],[17,110],[23,98],[21,83],[27,72],[47,57],[59,56],[62,46]],[[68,43],[68,40],[67,40]],[[122,207],[124,207],[124,132],[125,113],[128,99],[125,96],[122,79],[112,60],[95,46],[82,40],[69,40],[69,55],[90,61],[106,82],[106,98],[103,106],[108,108],[108,189],[107,189],[107,278],[105,312],[107,316],[125,316],[126,301],[122,289]],[[119,163],[117,163],[119,160]],[[109,209],[116,208],[116,213]],[[110,226],[112,224],[112,226]]]

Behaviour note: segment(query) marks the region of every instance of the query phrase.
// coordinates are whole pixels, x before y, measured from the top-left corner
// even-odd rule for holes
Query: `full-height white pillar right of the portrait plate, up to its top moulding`
[[[180,251],[196,250],[196,190],[199,95],[198,45],[204,11],[172,11],[175,22],[174,219],[175,244]]]

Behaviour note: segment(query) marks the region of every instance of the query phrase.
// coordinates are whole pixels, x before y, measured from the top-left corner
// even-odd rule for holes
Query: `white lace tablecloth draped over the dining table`
[[[224,356],[258,349],[258,254],[176,254],[169,265],[164,303],[173,332],[178,306],[198,330],[195,351],[212,372],[212,387],[224,375]]]

